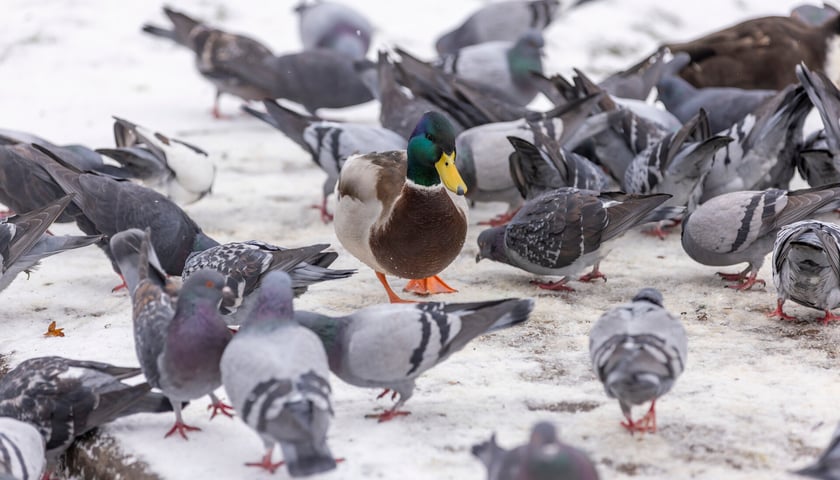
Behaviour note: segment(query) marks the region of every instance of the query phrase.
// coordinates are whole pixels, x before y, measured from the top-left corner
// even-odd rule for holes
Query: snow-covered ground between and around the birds
[[[401,45],[421,56],[433,39],[483,2],[475,0],[348,3],[378,28],[378,45]],[[596,78],[635,63],[663,40],[683,40],[736,21],[786,14],[786,0],[599,0],[569,12],[547,31],[547,71],[572,67]],[[299,49],[293,2],[184,0],[172,6],[230,31],[247,32],[276,52]],[[210,151],[219,174],[213,194],[186,207],[220,241],[261,239],[283,246],[332,243],[335,266],[354,277],[317,285],[298,308],[349,312],[385,295],[373,272],[342,249],[331,225],[308,206],[320,199],[323,174],[300,148],[257,120],[238,114],[226,97],[217,121],[214,90],[192,66],[192,54],[140,32],[164,22],[148,1],[6,0],[0,29],[0,127],[37,133],[56,143],[113,144],[111,115],[180,136]],[[375,102],[334,117],[373,123]],[[811,128],[817,126],[814,118]],[[479,204],[473,224],[503,210]],[[418,382],[411,416],[376,424],[363,418],[389,405],[377,391],[333,380],[335,419],[330,445],[346,458],[322,478],[478,479],[470,447],[492,432],[503,446],[525,441],[535,421],[550,420],[562,437],[590,453],[603,478],[779,479],[809,463],[840,420],[837,325],[768,320],[771,285],[757,292],[723,288],[714,269],[688,259],[679,238],[631,232],[603,262],[607,283],[573,282],[575,293],[535,290],[524,272],[476,264],[473,225],[462,254],[443,277],[460,292],[447,301],[507,296],[536,298],[531,320],[479,339]],[[53,228],[71,233],[71,225]],[[740,268],[740,266],[738,267]],[[734,269],[733,269],[734,270]],[[769,266],[762,276],[770,280]],[[136,365],[131,311],[109,262],[90,247],[53,257],[2,293],[0,352],[11,363],[63,355]],[[394,282],[401,286],[400,281]],[[660,431],[630,436],[591,372],[588,332],[594,320],[639,288],[654,286],[689,333],[688,365],[658,405]],[[814,319],[818,312],[791,306]],[[44,338],[56,320],[64,338]],[[189,441],[164,440],[171,415],[138,415],[109,425],[122,448],[165,478],[272,478],[247,468],[261,442],[238,419],[208,419],[205,401],[186,410],[203,429]],[[640,409],[641,410],[641,409]],[[641,414],[641,411],[639,412]],[[281,470],[273,478],[286,478]],[[791,477],[792,478],[792,477]]]

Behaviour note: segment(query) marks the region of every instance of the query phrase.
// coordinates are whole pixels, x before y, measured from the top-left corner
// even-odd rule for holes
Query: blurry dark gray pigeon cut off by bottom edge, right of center
[[[528,443],[507,450],[490,440],[472,447],[472,454],[487,468],[487,480],[598,480],[589,456],[557,438],[557,429],[539,422]]]

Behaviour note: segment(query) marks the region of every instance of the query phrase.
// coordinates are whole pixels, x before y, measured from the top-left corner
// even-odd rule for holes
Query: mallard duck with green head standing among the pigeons
[[[407,150],[347,159],[338,178],[335,234],[376,272],[392,303],[405,302],[385,275],[412,279],[405,291],[454,292],[440,273],[467,235],[467,186],[455,167],[455,130],[427,112]]]

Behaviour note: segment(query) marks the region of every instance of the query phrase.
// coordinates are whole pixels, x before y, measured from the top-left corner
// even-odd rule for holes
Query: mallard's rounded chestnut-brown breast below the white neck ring
[[[467,219],[445,189],[406,186],[392,212],[390,221],[370,237],[371,250],[384,273],[431,277],[461,252]]]

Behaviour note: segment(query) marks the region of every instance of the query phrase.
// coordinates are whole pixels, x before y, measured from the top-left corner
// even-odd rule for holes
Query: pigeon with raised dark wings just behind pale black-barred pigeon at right
[[[802,86],[790,86],[720,132],[733,141],[715,154],[700,201],[743,190],[787,189],[812,106]]]

